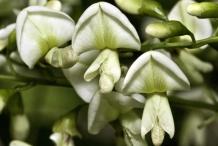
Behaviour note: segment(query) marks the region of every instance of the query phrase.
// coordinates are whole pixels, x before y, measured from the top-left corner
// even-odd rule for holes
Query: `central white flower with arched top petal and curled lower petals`
[[[140,47],[138,34],[127,17],[106,2],[95,3],[82,14],[72,37],[72,48],[77,55],[100,50],[84,78],[91,81],[100,74],[102,93],[111,92],[120,78],[118,49],[139,50]]]

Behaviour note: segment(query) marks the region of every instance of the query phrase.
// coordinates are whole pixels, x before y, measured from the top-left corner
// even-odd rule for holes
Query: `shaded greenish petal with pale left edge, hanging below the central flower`
[[[101,97],[97,91],[92,97],[88,109],[88,131],[97,134],[110,121],[118,118],[119,113]]]

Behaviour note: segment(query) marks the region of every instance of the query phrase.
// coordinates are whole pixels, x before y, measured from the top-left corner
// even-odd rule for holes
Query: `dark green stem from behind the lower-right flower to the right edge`
[[[191,101],[191,100],[181,99],[178,97],[168,97],[168,100],[172,104],[177,104],[181,106],[184,105],[184,106],[189,106],[189,107],[203,108],[203,109],[218,111],[218,106],[200,102],[200,101]]]

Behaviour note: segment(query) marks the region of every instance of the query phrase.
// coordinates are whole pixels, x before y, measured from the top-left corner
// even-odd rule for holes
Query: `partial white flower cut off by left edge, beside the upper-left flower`
[[[14,29],[15,24],[10,24],[4,29],[0,29],[0,51],[8,45],[9,36]]]

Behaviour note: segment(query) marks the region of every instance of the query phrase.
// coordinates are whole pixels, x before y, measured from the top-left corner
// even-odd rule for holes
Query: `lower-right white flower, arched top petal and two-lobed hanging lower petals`
[[[179,67],[165,55],[149,51],[130,67],[124,79],[125,95],[147,93],[142,116],[141,136],[151,131],[154,145],[163,142],[165,131],[174,136],[175,127],[167,91],[189,90],[189,81]]]

